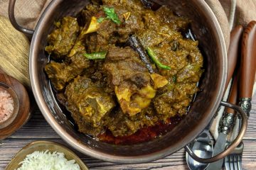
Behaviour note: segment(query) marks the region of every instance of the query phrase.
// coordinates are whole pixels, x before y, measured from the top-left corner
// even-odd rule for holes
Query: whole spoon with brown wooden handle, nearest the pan
[[[225,84],[225,89],[227,89],[229,81],[233,75],[235,70],[235,65],[238,61],[238,49],[240,45],[240,39],[242,35],[243,28],[242,26],[237,26],[231,31],[230,35],[230,47],[228,50],[228,73],[227,73],[227,81]],[[213,143],[210,141],[210,129],[211,123],[206,127],[205,130],[199,135],[195,142],[191,143],[191,148],[193,152],[202,158],[210,158],[213,156]],[[202,138],[203,137],[203,138]],[[189,154],[186,152],[186,162],[188,164],[189,169],[198,169],[203,170],[206,169],[208,164],[202,164],[200,162],[196,162]]]

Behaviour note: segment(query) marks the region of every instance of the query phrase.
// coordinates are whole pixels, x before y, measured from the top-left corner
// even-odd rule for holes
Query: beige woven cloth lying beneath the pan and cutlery
[[[51,0],[16,0],[15,16],[18,23],[33,29],[44,8]],[[230,30],[241,24],[246,26],[252,20],[256,21],[256,0],[205,0],[218,18],[223,30],[226,46],[229,46]],[[8,17],[9,0],[0,0],[0,15]],[[227,95],[226,95],[227,96]],[[218,125],[223,111],[213,121],[211,132],[218,137]]]

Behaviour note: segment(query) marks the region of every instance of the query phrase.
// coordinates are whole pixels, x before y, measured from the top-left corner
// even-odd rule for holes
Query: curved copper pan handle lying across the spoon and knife
[[[188,152],[188,154],[193,159],[195,159],[197,162],[208,164],[208,163],[211,163],[211,162],[216,162],[219,159],[223,159],[224,157],[228,156],[228,154],[233,152],[233,149],[235,149],[235,147],[238,147],[240,142],[242,142],[242,137],[245,135],[245,131],[246,131],[246,128],[247,128],[247,115],[246,115],[245,111],[243,111],[240,106],[236,106],[236,105],[233,105],[231,103],[224,102],[224,101],[221,101],[220,105],[228,107],[228,108],[232,108],[241,115],[242,126],[241,126],[241,129],[240,129],[240,132],[239,132],[238,136],[235,138],[235,140],[232,142],[232,144],[228,146],[227,149],[225,149],[220,154],[217,154],[215,157],[211,157],[211,158],[203,159],[201,157],[196,156],[196,154],[191,150],[191,148],[188,147],[188,145],[186,145],[185,146],[186,152]]]

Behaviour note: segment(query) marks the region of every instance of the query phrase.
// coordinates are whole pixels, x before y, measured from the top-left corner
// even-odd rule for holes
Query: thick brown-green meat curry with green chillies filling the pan
[[[189,24],[139,0],[92,1],[56,22],[45,71],[78,130],[122,137],[185,115],[203,72]]]

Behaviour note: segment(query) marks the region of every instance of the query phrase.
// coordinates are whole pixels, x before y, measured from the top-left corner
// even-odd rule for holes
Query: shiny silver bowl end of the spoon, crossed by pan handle
[[[190,145],[193,146],[191,149],[193,152],[202,158],[210,158],[213,157],[213,142],[210,140],[210,129],[211,123],[206,127],[205,130],[199,135],[195,142]],[[191,170],[203,170],[206,169],[208,164],[202,164],[200,162],[196,162],[189,154],[186,152],[186,163],[188,164],[189,169]]]

